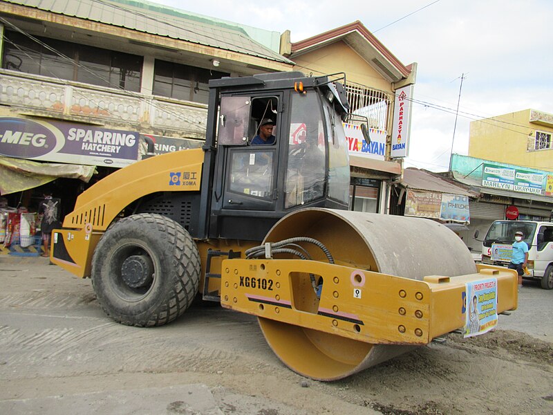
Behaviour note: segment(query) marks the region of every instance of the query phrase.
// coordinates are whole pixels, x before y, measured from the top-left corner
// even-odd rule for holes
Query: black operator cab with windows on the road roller
[[[292,210],[348,209],[341,85],[301,73],[239,79],[245,85],[220,86],[217,95],[209,237],[261,241]],[[210,87],[224,84],[225,78]],[[274,123],[275,139],[252,142],[267,119]],[[209,131],[208,126],[207,140]]]

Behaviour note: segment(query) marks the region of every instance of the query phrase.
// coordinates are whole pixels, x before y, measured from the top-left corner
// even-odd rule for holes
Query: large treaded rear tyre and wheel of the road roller
[[[161,326],[182,315],[200,284],[190,234],[160,214],[135,214],[109,228],[92,259],[92,285],[116,322]]]

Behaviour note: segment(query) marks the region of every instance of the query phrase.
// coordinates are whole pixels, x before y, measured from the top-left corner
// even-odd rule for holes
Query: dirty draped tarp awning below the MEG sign
[[[24,158],[0,156],[0,194],[32,189],[58,177],[78,178],[88,183],[95,171],[95,166],[39,163]]]

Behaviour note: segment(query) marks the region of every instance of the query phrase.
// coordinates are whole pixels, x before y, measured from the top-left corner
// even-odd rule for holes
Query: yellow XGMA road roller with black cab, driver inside
[[[344,76],[209,82],[203,147],[98,181],[53,231],[51,261],[91,278],[109,317],[160,326],[196,297],[256,315],[298,374],[337,380],[514,310],[513,270],[475,265],[429,219],[348,210]],[[361,121],[359,121],[361,119]]]

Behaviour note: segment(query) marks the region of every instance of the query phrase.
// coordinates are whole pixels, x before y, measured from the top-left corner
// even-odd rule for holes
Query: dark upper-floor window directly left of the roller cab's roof
[[[207,104],[209,80],[217,80],[224,76],[229,74],[156,59],[153,69],[153,94]]]

